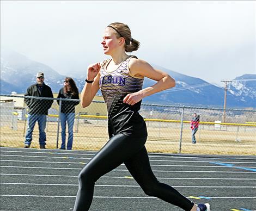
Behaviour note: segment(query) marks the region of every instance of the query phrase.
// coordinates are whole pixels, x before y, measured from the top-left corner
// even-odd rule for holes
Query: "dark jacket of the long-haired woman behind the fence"
[[[59,90],[59,94],[57,98],[79,100],[79,95],[78,93],[76,95],[72,95],[70,91],[68,91],[67,93],[64,93],[64,88],[61,88]],[[57,101],[57,103],[59,104],[59,101]],[[80,103],[79,101],[62,101],[61,112],[65,114],[75,113],[75,106],[78,105],[79,103]]]

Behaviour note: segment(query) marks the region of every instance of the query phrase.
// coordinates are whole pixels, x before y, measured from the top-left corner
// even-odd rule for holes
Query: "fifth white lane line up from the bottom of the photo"
[[[0,162],[24,162],[24,163],[60,163],[60,164],[87,164],[83,162],[52,162],[52,161],[36,161],[36,160],[2,160],[0,159]],[[121,164],[125,165],[125,164]],[[209,165],[155,165],[150,164],[150,166],[166,166],[166,167],[211,167],[211,168],[227,168],[227,166],[209,166]],[[237,168],[237,167],[247,167],[256,169],[256,166],[229,166],[230,168]]]

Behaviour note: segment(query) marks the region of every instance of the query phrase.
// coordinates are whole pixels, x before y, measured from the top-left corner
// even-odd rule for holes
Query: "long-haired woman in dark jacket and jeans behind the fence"
[[[66,77],[63,82],[63,88],[59,90],[57,98],[79,100],[78,89],[72,78]],[[57,101],[59,104],[59,101]],[[62,101],[60,113],[60,125],[62,127],[62,146],[61,150],[72,150],[73,144],[73,126],[75,120],[75,106],[79,101]],[[68,122],[68,143],[66,145],[66,123]]]

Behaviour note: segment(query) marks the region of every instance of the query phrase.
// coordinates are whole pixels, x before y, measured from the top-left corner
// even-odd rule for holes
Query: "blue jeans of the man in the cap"
[[[39,144],[46,145],[45,144],[46,115],[42,115],[42,114],[28,114],[28,129],[26,133],[25,144],[31,145],[32,134],[34,131],[36,121],[38,122],[38,128],[39,128]]]

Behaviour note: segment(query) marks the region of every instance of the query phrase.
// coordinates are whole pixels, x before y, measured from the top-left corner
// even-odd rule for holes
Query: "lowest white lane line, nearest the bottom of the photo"
[[[16,197],[65,197],[65,198],[75,198],[76,196],[47,196],[47,195],[9,195],[9,194],[1,194],[0,196],[16,196]],[[256,196],[208,196],[209,198],[256,198]],[[94,196],[94,198],[156,198],[153,196]]]

